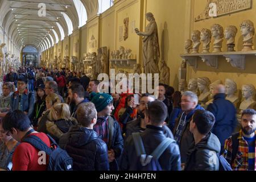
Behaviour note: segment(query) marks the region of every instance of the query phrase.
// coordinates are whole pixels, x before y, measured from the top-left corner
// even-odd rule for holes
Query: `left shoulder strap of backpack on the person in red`
[[[26,142],[37,148],[39,151],[46,152],[47,155],[51,155],[52,150],[49,148],[39,137],[31,135],[27,138],[24,138],[22,142]]]

